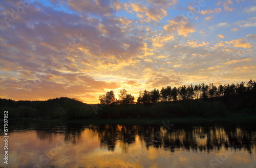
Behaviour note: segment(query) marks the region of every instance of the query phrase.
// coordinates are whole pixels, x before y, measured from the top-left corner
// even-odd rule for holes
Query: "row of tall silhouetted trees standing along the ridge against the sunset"
[[[151,91],[144,90],[139,92],[137,104],[153,104],[157,102],[176,102],[195,99],[212,99],[218,97],[229,98],[234,95],[251,95],[256,94],[255,80],[249,80],[246,85],[244,82],[240,84],[220,84],[218,87],[214,84],[198,84],[182,85],[180,87],[163,87],[161,90],[153,89]],[[113,90],[99,96],[100,104],[135,104],[135,97],[127,93],[125,89],[120,90],[119,99],[115,98]]]

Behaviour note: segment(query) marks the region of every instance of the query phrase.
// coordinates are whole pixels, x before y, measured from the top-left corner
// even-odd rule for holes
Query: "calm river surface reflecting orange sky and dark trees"
[[[255,122],[9,125],[8,167],[256,167]]]

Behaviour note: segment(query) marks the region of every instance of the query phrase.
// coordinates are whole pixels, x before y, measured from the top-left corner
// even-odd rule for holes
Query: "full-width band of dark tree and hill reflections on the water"
[[[17,123],[18,125],[20,123]],[[15,127],[12,130],[23,130]],[[84,125],[37,123],[26,125],[27,130],[35,130],[37,138],[52,141],[56,134],[63,134],[66,143],[79,143],[80,135],[85,129],[95,133],[100,139],[100,147],[115,151],[117,141],[122,143],[122,150],[128,152],[129,145],[135,143],[136,136],[146,148],[163,148],[170,152],[176,150],[219,152],[222,148],[245,150],[253,153],[256,145],[254,123],[200,123],[176,124],[167,129],[164,125]],[[10,134],[12,132],[10,131]],[[160,133],[156,136],[156,133]],[[2,134],[2,130],[1,130]],[[97,137],[95,137],[97,138]],[[255,151],[254,151],[255,152]]]

